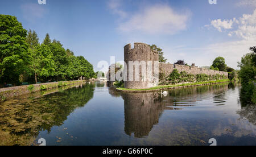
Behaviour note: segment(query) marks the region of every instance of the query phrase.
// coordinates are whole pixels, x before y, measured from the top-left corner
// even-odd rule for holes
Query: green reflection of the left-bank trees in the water
[[[61,126],[76,108],[93,98],[94,84],[61,89],[56,93],[37,92],[0,105],[0,145],[31,145],[39,131],[51,132]],[[45,94],[43,97],[38,94]],[[35,144],[35,143],[34,143]]]

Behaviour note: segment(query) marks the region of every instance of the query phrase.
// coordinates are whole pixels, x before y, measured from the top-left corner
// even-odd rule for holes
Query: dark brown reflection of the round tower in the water
[[[125,133],[134,137],[148,136],[163,110],[174,110],[164,105],[159,93],[122,93],[125,102]]]

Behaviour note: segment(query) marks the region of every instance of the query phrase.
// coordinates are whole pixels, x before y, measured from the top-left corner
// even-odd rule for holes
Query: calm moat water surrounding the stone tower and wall
[[[0,145],[256,145],[256,107],[233,84],[118,93],[87,83],[0,104]]]

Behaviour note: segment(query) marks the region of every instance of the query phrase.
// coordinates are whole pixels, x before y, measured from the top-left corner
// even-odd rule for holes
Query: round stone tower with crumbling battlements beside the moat
[[[158,61],[158,52],[152,51],[148,44],[134,43],[134,48],[131,48],[131,44],[127,44],[125,46],[125,63],[127,65],[127,81],[125,81],[125,88],[146,89],[158,85]],[[139,73],[135,73],[136,66],[131,65],[131,62],[139,63]],[[142,63],[146,64],[143,65]],[[144,66],[146,66],[147,69],[146,75],[142,71]],[[133,69],[131,69],[131,67],[133,67]],[[137,80],[135,77],[137,77]]]

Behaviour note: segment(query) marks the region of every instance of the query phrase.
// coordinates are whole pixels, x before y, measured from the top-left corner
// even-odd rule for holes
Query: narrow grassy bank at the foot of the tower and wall
[[[197,86],[197,85],[210,85],[210,84],[217,84],[221,82],[229,82],[229,79],[223,79],[223,80],[216,80],[216,81],[205,81],[205,82],[195,82],[195,83],[188,83],[188,84],[179,84],[179,85],[163,85],[163,86],[155,86],[148,89],[127,89],[127,88],[117,88],[117,91],[119,92],[143,92],[143,91],[154,91],[154,90],[160,90],[160,89],[170,89],[175,87],[188,87],[188,86]]]

